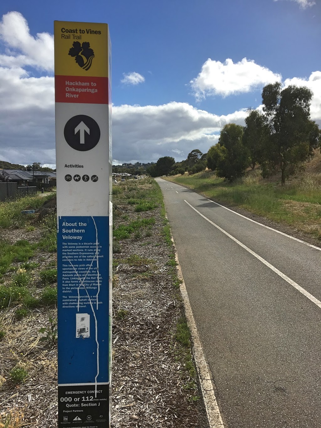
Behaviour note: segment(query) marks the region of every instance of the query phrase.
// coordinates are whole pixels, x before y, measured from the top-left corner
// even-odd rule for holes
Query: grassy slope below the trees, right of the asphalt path
[[[305,171],[290,178],[283,187],[279,175],[263,179],[259,169],[248,171],[244,178],[232,184],[217,178],[212,171],[166,179],[195,189],[217,202],[227,202],[278,223],[287,223],[321,240],[319,151],[305,164]]]

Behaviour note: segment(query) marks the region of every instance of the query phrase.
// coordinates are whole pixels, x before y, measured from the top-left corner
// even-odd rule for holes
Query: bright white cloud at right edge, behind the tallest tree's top
[[[308,79],[293,77],[285,79],[284,87],[289,85],[307,86],[313,92],[311,101],[311,119],[315,120],[321,126],[321,71],[313,71]]]

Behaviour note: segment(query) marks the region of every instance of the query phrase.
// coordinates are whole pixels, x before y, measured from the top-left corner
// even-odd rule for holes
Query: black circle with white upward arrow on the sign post
[[[63,134],[67,144],[80,152],[93,149],[100,140],[98,123],[84,114],[71,117],[65,124]]]

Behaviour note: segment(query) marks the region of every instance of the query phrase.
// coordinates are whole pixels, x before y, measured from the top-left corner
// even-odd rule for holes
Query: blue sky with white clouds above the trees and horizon
[[[276,81],[321,125],[321,0],[2,0],[0,160],[55,167],[54,20],[109,24],[114,164],[207,152]]]

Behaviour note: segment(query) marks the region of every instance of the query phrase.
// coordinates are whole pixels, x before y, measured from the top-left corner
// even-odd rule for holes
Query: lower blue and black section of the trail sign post
[[[109,217],[58,217],[59,423],[105,427],[109,413]],[[60,420],[61,419],[61,420]],[[79,426],[79,425],[77,425]]]

